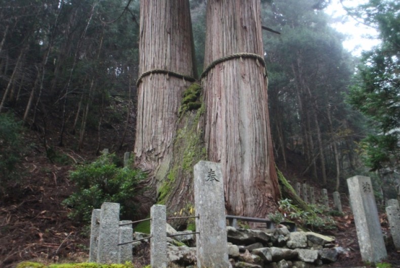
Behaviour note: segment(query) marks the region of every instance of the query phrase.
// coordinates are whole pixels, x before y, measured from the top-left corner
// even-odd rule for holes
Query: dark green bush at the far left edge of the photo
[[[0,114],[0,185],[15,175],[15,166],[20,161],[23,145],[22,124],[10,113]]]

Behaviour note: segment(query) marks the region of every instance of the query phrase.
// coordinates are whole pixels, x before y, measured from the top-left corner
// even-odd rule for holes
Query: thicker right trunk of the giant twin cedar
[[[260,1],[210,0],[205,66],[236,53],[264,55]],[[264,67],[255,59],[217,64],[203,79],[205,142],[221,162],[229,213],[263,217],[279,198]]]

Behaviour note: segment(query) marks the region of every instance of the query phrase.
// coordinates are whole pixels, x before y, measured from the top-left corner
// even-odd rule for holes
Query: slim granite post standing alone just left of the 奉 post
[[[166,268],[167,259],[167,210],[164,205],[150,208],[150,265],[151,268]]]

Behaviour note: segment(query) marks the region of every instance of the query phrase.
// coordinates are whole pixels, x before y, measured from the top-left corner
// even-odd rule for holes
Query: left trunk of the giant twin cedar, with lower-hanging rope
[[[141,1],[139,50],[139,75],[162,69],[193,77],[189,1]],[[178,109],[182,93],[190,84],[182,78],[153,73],[144,76],[138,86],[135,161],[141,168],[151,171],[143,183],[148,191],[140,200],[141,213],[148,212],[155,202],[173,162]]]

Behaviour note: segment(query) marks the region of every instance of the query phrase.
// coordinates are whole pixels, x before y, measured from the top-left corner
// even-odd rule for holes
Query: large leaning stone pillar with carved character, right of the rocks
[[[387,256],[371,178],[347,179],[355,229],[363,261],[379,262]]]

